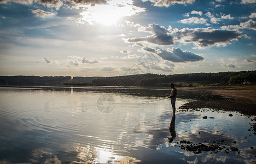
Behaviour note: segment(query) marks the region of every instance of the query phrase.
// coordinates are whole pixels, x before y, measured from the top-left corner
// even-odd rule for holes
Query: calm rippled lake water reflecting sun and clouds
[[[252,118],[202,109],[177,110],[174,119],[169,94],[165,89],[0,87],[0,162],[255,162],[256,136],[248,131]],[[178,90],[176,107],[221,98]],[[196,154],[182,149],[182,140],[228,150]]]

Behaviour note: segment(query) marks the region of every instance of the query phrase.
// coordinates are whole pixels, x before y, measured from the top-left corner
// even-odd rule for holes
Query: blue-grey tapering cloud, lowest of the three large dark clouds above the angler
[[[147,49],[144,49],[147,50]],[[153,50],[153,48],[152,48]],[[160,56],[163,60],[171,61],[171,62],[195,62],[202,61],[203,57],[197,54],[194,54],[190,51],[182,51],[180,48],[167,48],[166,50],[155,48],[155,51],[150,51],[154,54]],[[168,66],[172,66],[170,63],[166,63]]]

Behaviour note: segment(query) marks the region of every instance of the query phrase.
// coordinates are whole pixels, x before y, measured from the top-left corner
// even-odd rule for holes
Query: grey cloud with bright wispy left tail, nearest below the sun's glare
[[[141,38],[129,38],[128,42],[148,42],[158,45],[171,45],[173,44],[173,37],[168,35],[170,33],[165,27],[160,27],[157,24],[149,24],[148,27],[140,27],[140,31],[152,33],[152,36]]]

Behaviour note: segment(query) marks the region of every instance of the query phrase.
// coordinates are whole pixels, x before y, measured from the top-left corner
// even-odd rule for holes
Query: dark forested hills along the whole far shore
[[[255,84],[256,71],[186,73],[186,74],[136,74],[116,77],[71,77],[71,76],[0,76],[0,85],[78,85],[78,86],[142,86],[178,87],[203,85]]]

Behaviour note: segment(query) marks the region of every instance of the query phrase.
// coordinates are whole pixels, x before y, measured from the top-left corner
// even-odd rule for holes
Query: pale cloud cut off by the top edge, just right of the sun
[[[154,6],[158,7],[169,7],[175,3],[186,4],[186,3],[193,3],[195,0],[142,0],[143,2],[150,1],[154,3]]]

